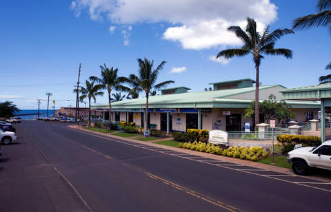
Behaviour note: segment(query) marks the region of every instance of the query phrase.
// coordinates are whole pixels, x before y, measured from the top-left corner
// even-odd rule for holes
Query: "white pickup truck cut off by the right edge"
[[[310,167],[331,170],[331,140],[319,147],[301,147],[288,153],[294,173],[308,175]]]

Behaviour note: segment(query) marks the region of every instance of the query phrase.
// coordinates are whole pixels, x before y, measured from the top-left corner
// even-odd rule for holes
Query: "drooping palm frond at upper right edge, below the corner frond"
[[[311,27],[330,26],[331,10],[325,10],[315,14],[308,14],[304,17],[299,17],[293,22],[293,29],[299,30],[308,29]]]

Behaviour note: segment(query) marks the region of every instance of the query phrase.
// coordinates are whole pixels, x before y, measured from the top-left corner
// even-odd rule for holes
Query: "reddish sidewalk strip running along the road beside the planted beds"
[[[150,146],[153,146],[153,147],[169,149],[169,150],[178,151],[178,152],[181,152],[181,153],[188,153],[188,154],[191,154],[191,155],[194,155],[194,156],[201,156],[201,157],[204,157],[204,158],[210,158],[210,159],[214,159],[214,160],[233,162],[233,163],[236,163],[238,165],[245,165],[245,166],[248,166],[248,167],[256,167],[256,168],[265,169],[265,170],[268,170],[268,171],[277,171],[279,173],[286,173],[286,174],[295,175],[293,173],[292,169],[286,169],[286,168],[283,168],[283,167],[276,167],[276,166],[272,166],[272,165],[265,165],[265,164],[262,164],[262,163],[259,163],[259,162],[252,162],[250,160],[241,160],[241,159],[237,159],[237,158],[229,158],[229,157],[225,157],[225,156],[214,155],[214,154],[211,154],[211,153],[204,153],[204,152],[200,152],[200,151],[192,151],[190,149],[182,149],[182,148],[178,148],[178,147],[168,147],[168,146],[165,146],[165,145],[158,145],[158,144],[154,143],[154,142],[157,142],[157,141],[160,141],[160,140],[170,140],[170,138],[163,138],[163,139],[160,139],[160,140],[151,140],[151,141],[146,142],[146,141],[141,141],[141,140],[134,140],[132,138],[123,138],[123,137],[120,137],[120,136],[113,136],[112,134],[103,134],[103,133],[100,133],[100,132],[97,132],[97,131],[90,131],[88,129],[83,129],[83,127],[77,126],[77,125],[71,125],[71,126],[68,126],[68,127],[73,128],[73,129],[79,129],[81,131],[87,131],[90,134],[97,134],[97,135],[107,136],[107,137],[110,137],[110,138],[117,138],[117,139],[121,139],[121,140],[127,140],[127,141],[130,141],[130,142],[137,142],[137,143],[140,143],[140,144],[150,145]],[[331,177],[329,177],[329,178],[320,177],[320,176],[301,176],[301,177],[309,178],[309,179],[312,179],[312,180],[320,180],[320,181],[323,181],[323,182],[331,182]]]

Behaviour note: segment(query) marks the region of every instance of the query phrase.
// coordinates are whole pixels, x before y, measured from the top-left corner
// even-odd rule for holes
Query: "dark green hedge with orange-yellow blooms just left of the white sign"
[[[207,129],[188,129],[187,132],[173,132],[172,138],[180,142],[208,142],[209,131]]]

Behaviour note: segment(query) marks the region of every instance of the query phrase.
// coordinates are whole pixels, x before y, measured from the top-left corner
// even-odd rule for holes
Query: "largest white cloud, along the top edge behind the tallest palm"
[[[71,8],[77,15],[87,8],[91,19],[102,19],[105,14],[119,25],[170,23],[163,39],[193,50],[240,45],[226,29],[230,25],[245,28],[246,17],[254,18],[259,30],[277,19],[277,7],[270,0],[74,0]]]

